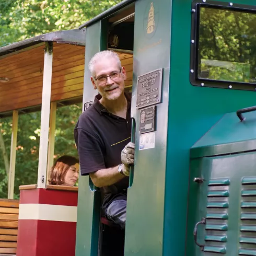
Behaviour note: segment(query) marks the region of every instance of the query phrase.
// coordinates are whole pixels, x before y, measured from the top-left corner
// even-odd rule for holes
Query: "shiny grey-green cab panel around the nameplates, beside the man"
[[[153,3],[155,30],[147,33],[148,14]],[[135,2],[132,116],[136,120],[135,166],[127,195],[125,256],[162,255],[166,137],[170,68],[171,1]],[[157,104],[155,148],[139,148],[139,110],[136,109],[137,77],[163,68],[162,103]],[[176,254],[177,255],[177,254]]]

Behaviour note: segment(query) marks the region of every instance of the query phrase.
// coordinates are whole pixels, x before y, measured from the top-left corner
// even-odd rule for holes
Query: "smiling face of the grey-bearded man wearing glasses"
[[[95,64],[94,72],[91,82],[94,88],[98,89],[102,98],[118,99],[124,90],[124,80],[126,79],[124,67],[120,70],[114,58],[104,58]]]

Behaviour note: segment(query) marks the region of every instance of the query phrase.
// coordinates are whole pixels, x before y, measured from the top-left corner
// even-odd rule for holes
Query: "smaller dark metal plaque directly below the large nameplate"
[[[155,131],[156,106],[141,110],[139,115],[139,133]]]

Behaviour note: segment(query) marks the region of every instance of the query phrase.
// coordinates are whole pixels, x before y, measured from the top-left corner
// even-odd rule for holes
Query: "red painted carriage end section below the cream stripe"
[[[19,220],[17,256],[75,256],[76,223]]]

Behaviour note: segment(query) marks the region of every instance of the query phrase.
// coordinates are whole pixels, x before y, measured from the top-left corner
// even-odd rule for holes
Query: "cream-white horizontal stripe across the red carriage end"
[[[20,204],[19,219],[53,220],[55,222],[76,222],[77,206],[52,204]]]

